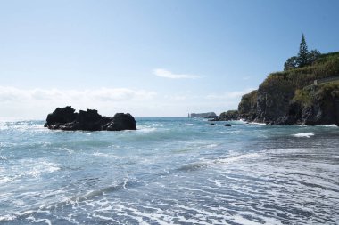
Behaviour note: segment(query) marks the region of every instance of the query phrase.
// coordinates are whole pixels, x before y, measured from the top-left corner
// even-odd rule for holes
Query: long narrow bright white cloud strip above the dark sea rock
[[[0,86],[0,101],[22,100],[149,100],[156,92],[132,90],[127,88],[100,88],[96,90],[60,90],[60,89],[26,89]]]

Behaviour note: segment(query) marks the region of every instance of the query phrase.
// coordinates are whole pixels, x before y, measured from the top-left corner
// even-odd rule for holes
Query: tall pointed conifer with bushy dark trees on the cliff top
[[[309,52],[305,36],[302,34],[302,41],[300,43],[298,56],[292,56],[287,59],[284,64],[284,71],[294,69],[294,68],[303,68],[313,64],[315,60],[320,56],[318,50],[312,50]]]

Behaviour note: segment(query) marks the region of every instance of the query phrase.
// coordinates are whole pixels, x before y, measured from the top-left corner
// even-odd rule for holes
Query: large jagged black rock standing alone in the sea
[[[67,106],[48,114],[45,127],[64,131],[123,131],[136,130],[136,120],[129,113],[103,117],[94,109],[76,113],[74,108]]]

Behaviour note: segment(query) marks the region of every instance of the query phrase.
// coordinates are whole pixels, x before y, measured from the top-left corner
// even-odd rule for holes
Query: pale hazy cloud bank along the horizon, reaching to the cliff
[[[244,93],[238,92],[169,92],[157,93],[128,88],[62,90],[58,88],[20,89],[0,86],[1,117],[45,119],[57,107],[77,110],[98,109],[104,116],[129,112],[134,117],[186,117],[190,112],[215,111],[217,114],[237,108]]]

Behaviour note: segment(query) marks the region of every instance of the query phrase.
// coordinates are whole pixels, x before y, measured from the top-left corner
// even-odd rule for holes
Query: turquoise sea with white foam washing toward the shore
[[[0,122],[0,224],[338,224],[339,128]]]

